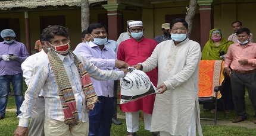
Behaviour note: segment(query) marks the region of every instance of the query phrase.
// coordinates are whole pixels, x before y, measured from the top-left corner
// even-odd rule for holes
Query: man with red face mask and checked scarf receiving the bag
[[[43,30],[50,47],[32,69],[30,85],[21,105],[15,136],[27,135],[29,117],[40,90],[45,97],[45,135],[88,135],[88,112],[98,102],[90,77],[96,80],[117,80],[127,69],[100,70],[82,56],[70,51],[68,29],[49,25]]]

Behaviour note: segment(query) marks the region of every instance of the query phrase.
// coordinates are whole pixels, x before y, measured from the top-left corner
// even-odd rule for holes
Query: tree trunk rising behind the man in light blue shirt
[[[90,24],[89,1],[81,0],[81,28],[86,30]]]

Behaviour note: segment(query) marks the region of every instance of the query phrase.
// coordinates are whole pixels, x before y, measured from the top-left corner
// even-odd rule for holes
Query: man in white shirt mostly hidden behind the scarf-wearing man
[[[42,51],[27,57],[27,59],[21,64],[23,70],[23,77],[27,86],[30,84],[30,77],[32,76],[32,68],[36,62],[38,62],[43,56],[48,53],[48,46],[45,43],[44,38],[40,35],[40,43],[42,45]],[[38,98],[34,100],[35,104],[32,106],[31,120],[29,124],[29,136],[45,135],[43,125],[45,124],[45,99],[43,97],[43,90],[38,95]]]

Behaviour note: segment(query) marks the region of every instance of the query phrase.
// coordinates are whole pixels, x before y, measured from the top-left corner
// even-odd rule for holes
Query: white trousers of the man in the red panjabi
[[[145,114],[143,112],[144,126],[146,130],[150,130],[152,114]],[[139,111],[126,112],[126,126],[127,132],[139,131]]]

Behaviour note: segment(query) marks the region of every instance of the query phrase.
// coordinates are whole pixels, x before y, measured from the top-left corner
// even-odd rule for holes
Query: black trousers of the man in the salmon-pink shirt
[[[233,102],[238,117],[245,118],[245,86],[248,90],[249,99],[254,108],[254,118],[256,119],[256,72],[245,75],[232,72],[230,76],[232,86]]]

